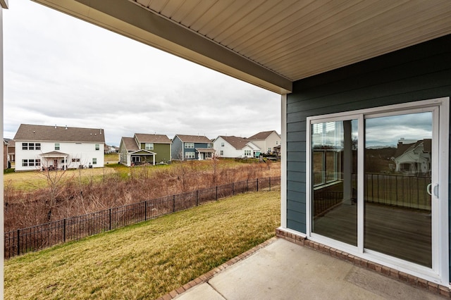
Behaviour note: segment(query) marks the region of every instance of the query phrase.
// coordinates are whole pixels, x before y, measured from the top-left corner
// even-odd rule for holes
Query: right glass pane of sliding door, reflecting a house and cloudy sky
[[[364,247],[432,267],[432,113],[365,120]]]

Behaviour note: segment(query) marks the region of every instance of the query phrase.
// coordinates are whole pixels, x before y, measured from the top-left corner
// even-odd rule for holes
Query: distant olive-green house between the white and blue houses
[[[122,137],[119,145],[119,162],[129,167],[171,161],[171,139],[166,135],[135,133],[133,137]]]

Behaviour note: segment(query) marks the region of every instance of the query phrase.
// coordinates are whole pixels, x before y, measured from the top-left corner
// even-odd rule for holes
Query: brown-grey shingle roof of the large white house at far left
[[[20,124],[14,140],[105,143],[105,132],[101,128]]]

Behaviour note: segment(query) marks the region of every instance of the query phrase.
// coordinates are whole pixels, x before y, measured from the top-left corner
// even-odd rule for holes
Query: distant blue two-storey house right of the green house
[[[213,142],[202,135],[175,135],[172,139],[171,155],[181,161],[197,159],[202,161],[213,158]]]

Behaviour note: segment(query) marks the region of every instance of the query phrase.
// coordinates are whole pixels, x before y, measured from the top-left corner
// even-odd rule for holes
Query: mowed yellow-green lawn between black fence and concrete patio
[[[155,299],[275,235],[280,191],[247,193],[5,261],[5,299]]]

